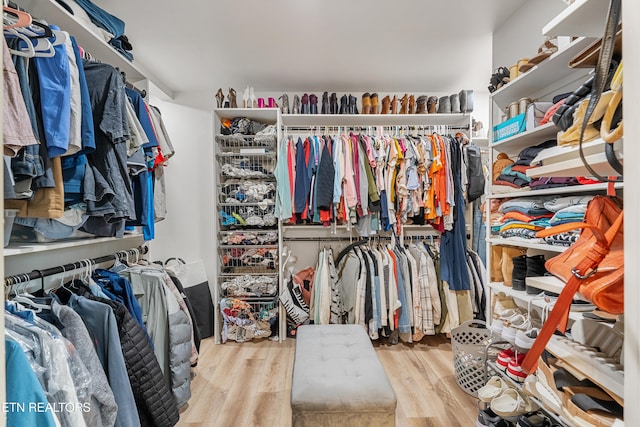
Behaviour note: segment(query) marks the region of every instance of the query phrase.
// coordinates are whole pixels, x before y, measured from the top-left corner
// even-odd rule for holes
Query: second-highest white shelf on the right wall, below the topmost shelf
[[[568,46],[560,47],[549,58],[493,92],[491,100],[503,110],[522,97],[550,101],[560,88],[569,86],[575,81],[585,80],[589,69],[569,68],[567,63],[592,41],[591,38],[580,37]]]

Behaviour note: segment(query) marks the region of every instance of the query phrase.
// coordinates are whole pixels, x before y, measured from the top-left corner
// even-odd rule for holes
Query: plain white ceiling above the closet
[[[95,3],[126,22],[136,61],[175,92],[346,92],[486,87],[491,33],[524,1]]]

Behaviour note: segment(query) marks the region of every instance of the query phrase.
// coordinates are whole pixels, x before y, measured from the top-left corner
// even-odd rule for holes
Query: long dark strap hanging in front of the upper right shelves
[[[580,130],[580,144],[578,146],[582,163],[593,177],[602,182],[609,182],[609,179],[598,175],[596,171],[594,171],[593,168],[587,163],[587,160],[584,158],[584,152],[582,151],[582,140],[584,139],[584,132],[587,129],[589,118],[591,118],[591,115],[596,109],[596,105],[598,105],[598,101],[600,101],[600,95],[604,91],[604,87],[607,82],[607,75],[609,74],[611,59],[613,58],[613,48],[616,42],[618,22],[620,21],[621,4],[621,0],[611,0],[611,3],[609,3],[609,13],[607,15],[604,37],[602,39],[602,44],[600,47],[598,65],[596,65],[595,80],[591,88],[591,96],[589,98],[589,104],[587,105],[587,111],[585,112],[584,120],[582,121],[582,128]],[[607,151],[607,149],[609,150],[609,152]],[[615,154],[613,154],[613,144],[607,144],[605,153],[607,153],[607,159],[609,159],[610,157],[613,157],[615,159]],[[617,159],[615,159],[615,163],[617,163],[617,166],[614,166],[614,164],[612,163],[612,167],[616,170],[616,172],[622,174],[622,165],[620,165],[620,162],[618,162]],[[619,167],[620,170],[618,170],[617,167]]]

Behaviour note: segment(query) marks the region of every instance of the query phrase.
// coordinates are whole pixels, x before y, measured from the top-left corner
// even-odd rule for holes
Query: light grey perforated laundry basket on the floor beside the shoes
[[[465,322],[451,331],[456,381],[474,397],[486,383],[485,349],[491,343],[491,329],[487,329],[482,320]]]

